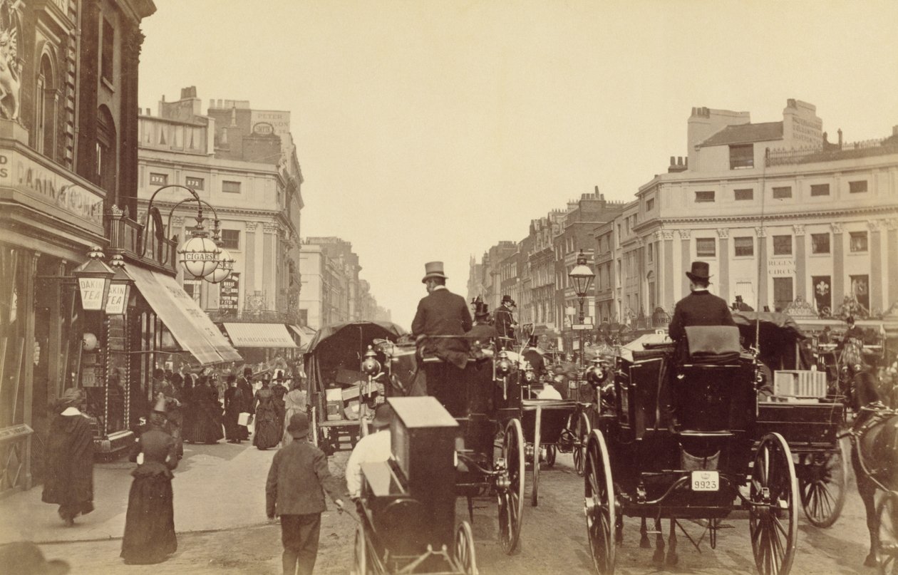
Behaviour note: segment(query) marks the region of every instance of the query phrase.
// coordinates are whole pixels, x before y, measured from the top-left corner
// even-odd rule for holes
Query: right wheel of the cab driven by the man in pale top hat
[[[521,517],[524,515],[524,431],[521,421],[508,421],[502,441],[502,458],[507,469],[507,486],[498,487],[499,543],[502,551],[510,555],[515,551],[521,535]]]

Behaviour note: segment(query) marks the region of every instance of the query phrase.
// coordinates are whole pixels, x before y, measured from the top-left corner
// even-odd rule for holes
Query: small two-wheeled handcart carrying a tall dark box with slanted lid
[[[393,397],[392,457],[362,464],[354,572],[475,575],[471,524],[455,525],[458,424],[433,397]]]

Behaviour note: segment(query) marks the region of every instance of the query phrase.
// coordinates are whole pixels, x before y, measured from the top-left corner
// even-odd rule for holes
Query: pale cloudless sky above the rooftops
[[[599,190],[630,200],[686,155],[693,106],[846,141],[898,124],[898,2],[154,0],[140,105],[196,85],[291,112],[302,235],[353,244],[408,329],[426,261],[468,262]]]

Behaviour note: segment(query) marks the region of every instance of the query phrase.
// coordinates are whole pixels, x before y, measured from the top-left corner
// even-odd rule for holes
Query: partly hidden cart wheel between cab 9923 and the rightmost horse
[[[848,457],[839,451],[812,453],[802,457],[798,488],[805,517],[815,527],[832,526],[845,505],[848,487]]]

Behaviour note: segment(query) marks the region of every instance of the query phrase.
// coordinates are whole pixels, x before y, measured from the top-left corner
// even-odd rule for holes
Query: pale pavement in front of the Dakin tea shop
[[[184,444],[174,470],[174,525],[178,533],[216,531],[267,523],[265,480],[277,449],[260,451],[249,443]],[[347,455],[330,457],[330,471],[342,477]],[[0,500],[0,544],[28,540],[39,544],[103,541],[125,529],[130,472],[127,460],[95,464],[92,513],[66,527],[57,506],[40,500],[42,487]],[[332,505],[329,504],[332,508]]]

